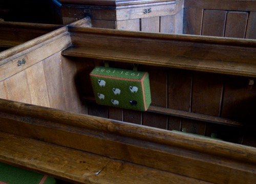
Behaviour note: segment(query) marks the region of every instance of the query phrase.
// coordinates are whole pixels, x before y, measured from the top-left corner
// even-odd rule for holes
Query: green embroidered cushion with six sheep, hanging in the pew
[[[151,103],[147,72],[96,66],[90,77],[98,104],[146,111]]]

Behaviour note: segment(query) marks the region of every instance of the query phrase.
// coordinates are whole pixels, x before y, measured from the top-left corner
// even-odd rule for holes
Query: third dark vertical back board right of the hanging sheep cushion
[[[221,75],[194,73],[191,112],[220,116],[222,90]]]

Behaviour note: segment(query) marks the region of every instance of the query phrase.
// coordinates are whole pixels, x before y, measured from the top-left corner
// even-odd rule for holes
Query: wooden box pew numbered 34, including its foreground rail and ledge
[[[255,51],[249,39],[76,25],[3,51],[0,162],[78,183],[254,183],[256,149],[239,144],[255,146]],[[148,111],[94,103],[102,60],[148,71]]]

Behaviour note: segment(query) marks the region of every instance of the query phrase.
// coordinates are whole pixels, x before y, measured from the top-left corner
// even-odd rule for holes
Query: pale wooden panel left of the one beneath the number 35
[[[116,21],[118,30],[140,31],[140,19]]]

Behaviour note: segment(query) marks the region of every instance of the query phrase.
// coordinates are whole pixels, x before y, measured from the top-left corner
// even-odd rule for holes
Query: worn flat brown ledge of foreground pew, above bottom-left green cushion
[[[176,183],[182,181],[208,183],[4,132],[0,132],[0,137],[1,162],[45,173],[70,182]],[[65,164],[66,162],[69,164]]]

